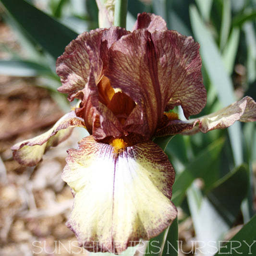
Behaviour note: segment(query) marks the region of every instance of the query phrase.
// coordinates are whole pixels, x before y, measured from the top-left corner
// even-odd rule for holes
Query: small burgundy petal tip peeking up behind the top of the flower
[[[161,16],[146,12],[137,15],[137,20],[132,31],[141,28],[146,28],[149,32],[167,30],[166,22]]]

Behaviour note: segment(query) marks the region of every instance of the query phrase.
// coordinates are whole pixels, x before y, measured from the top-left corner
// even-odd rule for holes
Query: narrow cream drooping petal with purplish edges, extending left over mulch
[[[56,122],[46,133],[12,146],[13,158],[22,165],[36,165],[50,146],[57,146],[69,137],[73,127],[85,128],[85,123],[75,115],[74,111],[71,111]]]

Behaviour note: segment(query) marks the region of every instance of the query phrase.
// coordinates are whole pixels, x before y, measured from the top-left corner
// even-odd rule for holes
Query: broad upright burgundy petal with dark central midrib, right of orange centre
[[[199,45],[192,37],[139,29],[116,41],[109,59],[105,73],[112,87],[137,104],[124,124],[128,132],[150,138],[164,111],[181,105],[188,118],[206,104]]]

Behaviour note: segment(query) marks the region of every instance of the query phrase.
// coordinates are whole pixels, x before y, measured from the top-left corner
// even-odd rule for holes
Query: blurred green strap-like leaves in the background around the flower
[[[193,36],[200,43],[208,98],[200,115],[244,95],[256,99],[256,0],[147,2],[128,1],[127,29],[133,27],[138,12],[153,12],[166,20],[169,29]],[[79,33],[98,26],[95,0],[42,0],[38,7],[41,10],[33,0],[0,3],[2,18],[16,31],[25,50],[23,57],[13,53],[11,60],[0,60],[0,74],[47,78],[42,86],[55,91],[60,86],[55,74],[56,58]],[[227,130],[191,137],[176,135],[170,143],[169,140],[158,143],[176,170],[173,202],[184,212],[179,222],[191,216],[199,240],[217,241],[234,224],[245,223],[254,216],[255,123],[237,122]],[[251,223],[255,227],[255,218]],[[241,232],[237,235],[239,241],[256,240],[256,229],[250,225]],[[177,234],[171,227],[159,239],[163,244],[170,237],[176,241]]]

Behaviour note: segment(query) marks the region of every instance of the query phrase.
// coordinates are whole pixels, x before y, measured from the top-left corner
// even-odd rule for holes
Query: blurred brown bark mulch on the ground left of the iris
[[[20,51],[15,35],[0,23],[0,59]],[[4,46],[4,47],[3,47]],[[0,255],[87,255],[65,225],[73,195],[61,180],[66,150],[79,131],[52,148],[37,167],[12,158],[11,146],[48,130],[63,111],[37,78],[0,75]]]

